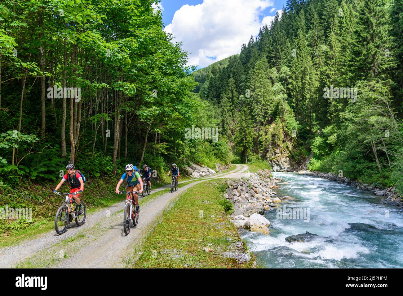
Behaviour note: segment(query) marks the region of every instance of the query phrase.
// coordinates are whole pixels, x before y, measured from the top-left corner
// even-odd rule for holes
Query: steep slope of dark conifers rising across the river
[[[242,160],[403,191],[403,1],[288,0],[199,96]]]

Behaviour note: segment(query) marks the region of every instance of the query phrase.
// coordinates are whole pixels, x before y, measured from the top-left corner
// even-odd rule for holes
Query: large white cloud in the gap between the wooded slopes
[[[262,19],[262,11],[273,5],[273,0],[204,0],[195,6],[186,4],[175,12],[165,31],[172,33],[175,41],[183,42],[183,49],[191,53],[188,65],[204,67],[239,53],[242,43],[257,35],[267,21],[270,25],[274,16]]]

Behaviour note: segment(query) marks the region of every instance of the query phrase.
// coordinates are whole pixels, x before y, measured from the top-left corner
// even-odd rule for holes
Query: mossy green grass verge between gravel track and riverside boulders
[[[253,255],[241,263],[223,254],[245,253],[247,249],[225,214],[221,182],[203,182],[179,195],[174,206],[147,235],[129,267],[252,267]],[[203,248],[214,251],[206,252]]]

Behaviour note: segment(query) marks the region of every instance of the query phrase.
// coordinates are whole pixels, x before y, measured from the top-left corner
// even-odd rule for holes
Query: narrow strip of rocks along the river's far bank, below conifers
[[[395,187],[381,188],[381,187],[378,187],[378,185],[376,185],[376,184],[372,184],[372,185],[362,184],[362,183],[358,182],[357,180],[351,180],[346,177],[339,177],[339,175],[332,174],[332,173],[322,173],[322,172],[315,172],[315,171],[299,171],[298,173],[301,173],[303,175],[321,177],[321,178],[329,179],[332,181],[337,181],[337,183],[341,183],[344,185],[353,186],[357,189],[371,191],[375,195],[383,197],[383,199],[381,200],[382,203],[385,203],[387,205],[392,205],[392,206],[398,206],[400,210],[403,209],[403,202],[402,202],[403,197],[398,195]]]

